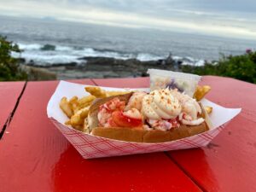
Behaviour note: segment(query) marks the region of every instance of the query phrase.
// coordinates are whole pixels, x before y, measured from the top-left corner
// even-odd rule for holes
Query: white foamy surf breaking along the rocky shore
[[[115,59],[137,59],[139,61],[158,61],[166,59],[166,55],[153,55],[149,53],[125,53],[112,49],[93,49],[81,48],[67,45],[54,44],[18,44],[23,50],[21,57],[26,59],[26,62],[33,61],[38,65],[51,65],[56,63],[82,63],[85,62],[79,58],[84,57],[113,57]],[[20,55],[14,55],[20,56]],[[182,61],[182,65],[202,66],[204,61],[195,60],[192,57],[180,57],[173,55],[174,61]]]

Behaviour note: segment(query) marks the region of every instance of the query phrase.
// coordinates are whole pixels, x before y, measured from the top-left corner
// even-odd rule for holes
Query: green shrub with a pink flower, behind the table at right
[[[182,66],[182,71],[230,77],[256,84],[256,51],[247,50],[244,55],[221,55],[216,64],[206,63],[202,67]]]

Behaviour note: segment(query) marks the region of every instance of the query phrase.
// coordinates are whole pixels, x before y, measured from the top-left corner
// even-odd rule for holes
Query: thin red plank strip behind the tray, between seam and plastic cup
[[[126,79],[93,79],[93,81],[105,87],[118,88],[145,88],[149,87],[149,78],[126,78]]]

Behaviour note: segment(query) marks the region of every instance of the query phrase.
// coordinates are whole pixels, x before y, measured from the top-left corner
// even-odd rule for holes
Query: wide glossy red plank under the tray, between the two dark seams
[[[82,159],[47,119],[56,84],[27,84],[0,144],[1,192],[201,191],[164,153]]]

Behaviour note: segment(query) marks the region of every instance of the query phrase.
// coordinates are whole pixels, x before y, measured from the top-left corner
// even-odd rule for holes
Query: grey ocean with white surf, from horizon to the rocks
[[[151,61],[183,59],[191,65],[218,60],[220,54],[241,55],[256,49],[256,39],[219,38],[147,28],[100,26],[50,19],[0,16],[0,35],[23,49],[26,62],[38,65],[81,62],[84,56]]]

